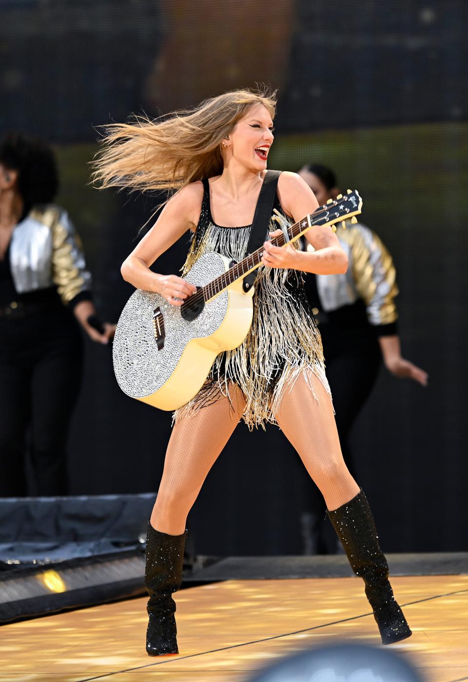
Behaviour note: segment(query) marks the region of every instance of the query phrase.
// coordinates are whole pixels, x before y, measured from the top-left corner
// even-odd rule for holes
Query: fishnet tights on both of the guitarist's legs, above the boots
[[[310,374],[309,381],[317,400],[301,374],[285,392],[275,417],[332,510],[351,500],[360,488],[341,455],[330,398],[315,374]],[[185,531],[187,515],[204,479],[245,408],[238,387],[231,387],[230,396],[232,406],[228,398],[220,398],[181,416],[174,424],[151,514],[151,525],[161,533],[181,535]]]

